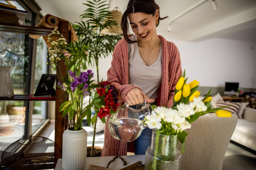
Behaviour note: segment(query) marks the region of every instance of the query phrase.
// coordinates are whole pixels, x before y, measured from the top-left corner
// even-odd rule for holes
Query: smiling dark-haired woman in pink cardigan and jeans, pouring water
[[[130,0],[122,17],[124,37],[115,46],[107,75],[108,81],[119,92],[119,102],[126,101],[135,109],[141,107],[138,103],[142,103],[143,98],[157,106],[170,108],[173,104],[175,85],[182,68],[177,47],[156,33],[159,21],[165,18],[159,16],[159,6],[154,0]],[[129,24],[135,35],[127,33]],[[134,141],[135,154],[145,154],[151,133],[152,130],[146,128]],[[114,139],[108,124],[104,136],[101,156],[126,155],[127,142]]]

